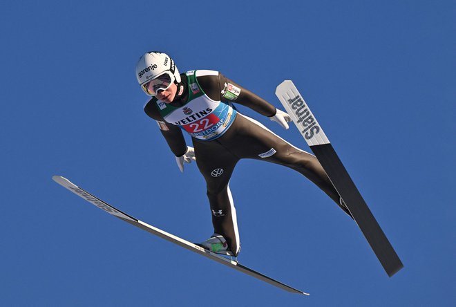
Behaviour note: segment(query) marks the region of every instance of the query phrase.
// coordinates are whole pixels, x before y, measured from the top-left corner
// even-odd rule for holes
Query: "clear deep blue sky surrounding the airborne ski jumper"
[[[455,306],[455,1],[0,3],[2,306]],[[239,261],[276,289],[138,230],[56,185],[66,176],[189,241],[211,234],[196,165],[181,174],[134,66],[163,50],[275,106],[293,80],[405,268],[290,169],[231,178]],[[288,131],[240,108],[307,151]]]

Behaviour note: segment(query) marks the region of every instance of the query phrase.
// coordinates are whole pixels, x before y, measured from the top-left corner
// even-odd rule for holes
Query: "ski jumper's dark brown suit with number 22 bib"
[[[188,71],[181,77],[173,102],[165,104],[153,97],[144,111],[158,122],[175,156],[187,151],[182,130],[191,135],[196,163],[207,184],[214,232],[225,237],[234,255],[239,253],[240,240],[228,184],[242,158],[265,160],[298,171],[348,213],[315,156],[289,144],[232,106],[235,102],[272,117],[276,114],[272,104],[217,71]]]

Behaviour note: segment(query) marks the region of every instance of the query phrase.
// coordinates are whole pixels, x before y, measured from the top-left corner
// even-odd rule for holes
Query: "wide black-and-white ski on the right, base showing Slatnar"
[[[384,270],[389,277],[392,277],[403,268],[403,264],[383,230],[381,230],[379,223],[370,212],[356,185],[354,185],[348,171],[334,151],[323,129],[321,129],[321,125],[316,121],[315,116],[292,81],[285,80],[279,84],[276,89],[276,96],[325,169],[327,176],[339,192],[348,207],[348,211],[363,232]]]

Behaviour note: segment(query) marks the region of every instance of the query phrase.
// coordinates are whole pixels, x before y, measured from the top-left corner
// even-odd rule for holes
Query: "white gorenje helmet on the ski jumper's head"
[[[168,89],[171,84],[181,81],[173,59],[158,51],[151,51],[140,57],[136,64],[136,79],[149,96],[155,96],[159,90]]]

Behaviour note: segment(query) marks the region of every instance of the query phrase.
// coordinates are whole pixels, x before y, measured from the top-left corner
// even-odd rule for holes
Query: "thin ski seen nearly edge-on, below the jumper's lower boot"
[[[102,209],[105,212],[108,212],[109,214],[112,214],[113,216],[120,218],[122,221],[126,221],[127,223],[130,223],[131,225],[139,227],[142,230],[146,230],[146,232],[155,234],[155,236],[160,236],[160,238],[170,241],[171,243],[174,243],[176,245],[179,245],[182,248],[186,248],[187,250],[196,252],[197,254],[207,257],[213,261],[222,263],[223,265],[228,266],[229,268],[234,268],[234,270],[238,270],[247,275],[255,277],[256,279],[265,281],[265,282],[271,284],[272,286],[276,286],[276,287],[286,290],[288,292],[298,293],[301,295],[309,295],[306,292],[303,292],[301,290],[297,290],[295,288],[287,286],[287,285],[285,285],[285,283],[276,281],[275,279],[272,279],[271,277],[267,277],[266,275],[263,275],[262,273],[257,272],[256,270],[252,270],[251,268],[248,268],[247,266],[243,266],[242,264],[238,263],[238,261],[233,261],[231,259],[222,257],[219,254],[210,252],[209,250],[206,250],[205,248],[202,248],[194,243],[186,241],[178,236],[169,234],[168,232],[164,232],[163,230],[160,230],[157,227],[153,227],[152,225],[144,223],[143,221],[140,221],[137,218],[134,218],[133,216],[116,209],[115,207],[102,201],[101,199],[97,198],[96,196],[93,196],[93,194],[90,194],[89,192],[78,187],[74,183],[71,183],[70,180],[68,180],[62,176],[53,176],[53,180],[56,183],[58,183],[59,185],[61,185],[62,187],[65,187],[66,189],[75,193],[77,196],[80,196],[80,197],[84,198],[86,201],[88,201],[89,203],[92,203],[93,205],[99,207],[99,209]]]

